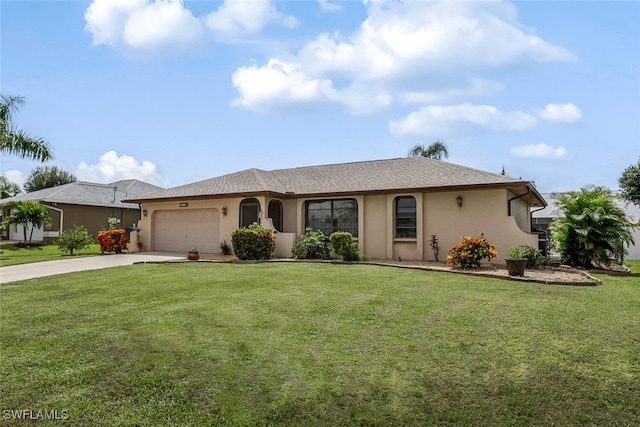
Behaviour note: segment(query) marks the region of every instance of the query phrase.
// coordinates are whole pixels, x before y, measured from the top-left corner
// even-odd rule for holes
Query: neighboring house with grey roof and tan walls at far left
[[[139,206],[135,203],[125,203],[123,199],[159,190],[162,188],[136,179],[111,184],[77,181],[1,199],[0,203],[3,205],[4,218],[11,210],[10,205],[6,205],[9,202],[36,200],[49,209],[51,224],[44,230],[35,230],[34,241],[55,240],[61,231],[72,229],[75,225],[85,226],[95,238],[100,230],[107,227],[109,217],[116,218],[123,228],[138,223]],[[17,230],[10,227],[4,233],[4,239],[23,239],[21,227]]]

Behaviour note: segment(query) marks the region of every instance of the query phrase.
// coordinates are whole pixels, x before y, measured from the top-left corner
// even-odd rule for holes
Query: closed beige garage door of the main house
[[[155,250],[186,252],[197,247],[201,253],[220,252],[217,209],[159,211],[155,213]]]

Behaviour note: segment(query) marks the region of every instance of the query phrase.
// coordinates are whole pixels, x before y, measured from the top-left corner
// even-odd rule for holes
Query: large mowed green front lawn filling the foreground
[[[0,410],[107,426],[639,425],[633,268],[597,287],[302,263],[10,283]]]

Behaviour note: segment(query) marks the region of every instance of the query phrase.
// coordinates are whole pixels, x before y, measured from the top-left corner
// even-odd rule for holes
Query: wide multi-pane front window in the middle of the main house
[[[309,200],[305,204],[305,227],[320,230],[327,236],[334,231],[348,231],[358,237],[358,202],[356,199]]]

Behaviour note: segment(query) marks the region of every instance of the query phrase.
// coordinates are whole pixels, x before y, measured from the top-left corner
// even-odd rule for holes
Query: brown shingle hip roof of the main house
[[[524,185],[531,186],[527,181],[441,160],[404,157],[273,171],[248,169],[146,194],[135,201],[265,193],[299,197],[463,187],[524,188]]]

